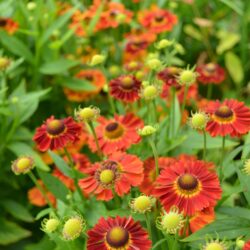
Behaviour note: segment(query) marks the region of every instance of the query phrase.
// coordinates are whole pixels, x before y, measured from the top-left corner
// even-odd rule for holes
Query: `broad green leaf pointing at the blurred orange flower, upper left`
[[[47,62],[41,66],[40,72],[45,75],[55,75],[65,73],[68,69],[80,64],[78,61],[59,59],[53,62]]]

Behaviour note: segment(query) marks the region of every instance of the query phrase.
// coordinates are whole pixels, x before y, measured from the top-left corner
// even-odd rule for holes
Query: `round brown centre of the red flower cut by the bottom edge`
[[[128,230],[120,226],[113,227],[108,231],[106,240],[113,248],[124,247],[129,240]]]

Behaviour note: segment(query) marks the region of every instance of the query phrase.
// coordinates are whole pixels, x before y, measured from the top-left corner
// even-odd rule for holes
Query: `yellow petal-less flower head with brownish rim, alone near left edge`
[[[34,159],[30,156],[21,156],[11,165],[12,171],[16,174],[26,174],[35,167]]]

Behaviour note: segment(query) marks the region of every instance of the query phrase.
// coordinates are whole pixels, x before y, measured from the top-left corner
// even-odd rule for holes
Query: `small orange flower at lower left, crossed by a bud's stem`
[[[41,180],[38,180],[40,186],[45,190],[46,196],[48,197],[49,201],[53,206],[56,206],[56,198],[55,196],[48,192]],[[47,202],[37,187],[33,187],[28,191],[28,199],[29,202],[37,207],[44,207],[47,205]]]

